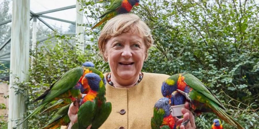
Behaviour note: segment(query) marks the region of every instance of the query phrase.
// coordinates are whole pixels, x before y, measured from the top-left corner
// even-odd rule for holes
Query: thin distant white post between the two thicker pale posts
[[[37,45],[37,17],[33,17],[33,30],[32,30],[32,43],[31,51],[35,54],[35,48]],[[31,56],[31,69],[33,68],[34,56]]]

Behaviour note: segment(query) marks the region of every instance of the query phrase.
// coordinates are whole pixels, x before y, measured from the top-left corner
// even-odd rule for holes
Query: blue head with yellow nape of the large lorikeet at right
[[[164,97],[171,98],[171,94],[176,91],[177,85],[171,79],[166,79],[161,86],[161,92]]]

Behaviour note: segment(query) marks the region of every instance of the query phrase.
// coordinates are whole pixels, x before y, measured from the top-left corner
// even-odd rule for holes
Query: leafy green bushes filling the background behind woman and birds
[[[110,1],[81,0],[84,15],[90,23],[85,26],[85,53],[76,52],[71,39],[55,33],[38,47],[28,82],[17,82],[17,93],[29,91],[28,108],[65,71],[93,61],[96,68],[108,72],[109,67],[98,54],[97,39],[103,25],[87,32]],[[259,128],[259,52],[258,3],[245,1],[146,0],[134,7],[151,28],[155,46],[142,71],[173,75],[189,72],[207,85],[230,114],[246,129]],[[55,113],[55,112],[54,112]],[[29,128],[40,128],[51,118],[47,113],[29,120]],[[214,114],[196,118],[197,128],[211,128]],[[226,129],[233,128],[223,122]]]

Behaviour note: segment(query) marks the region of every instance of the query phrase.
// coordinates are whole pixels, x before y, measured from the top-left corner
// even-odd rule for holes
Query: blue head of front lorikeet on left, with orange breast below
[[[87,73],[85,74],[85,78],[87,79],[88,85],[93,91],[98,91],[100,89],[100,81],[102,81],[101,77],[96,73]]]

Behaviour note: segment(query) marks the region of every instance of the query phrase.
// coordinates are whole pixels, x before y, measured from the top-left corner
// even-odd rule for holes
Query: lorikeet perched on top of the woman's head
[[[94,27],[100,26],[104,21],[107,21],[118,14],[129,13],[134,5],[138,5],[139,0],[115,0],[108,9],[98,18],[102,18]],[[89,30],[89,31],[90,31]]]

